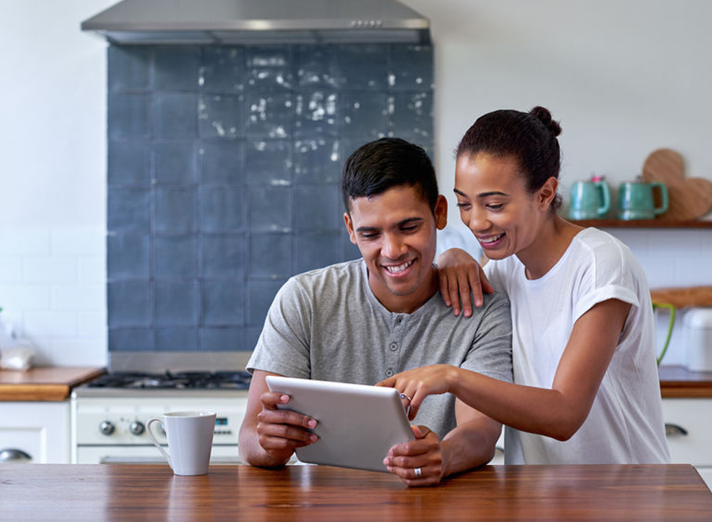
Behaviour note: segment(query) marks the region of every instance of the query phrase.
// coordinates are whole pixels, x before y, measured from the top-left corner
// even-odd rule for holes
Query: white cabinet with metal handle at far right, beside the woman
[[[712,489],[712,399],[663,399],[674,463],[692,464]]]

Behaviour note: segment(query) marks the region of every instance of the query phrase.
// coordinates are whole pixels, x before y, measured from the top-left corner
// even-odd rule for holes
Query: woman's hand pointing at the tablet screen
[[[393,377],[378,382],[376,386],[392,387],[409,399],[408,418],[414,419],[420,404],[428,395],[450,392],[457,381],[460,369],[451,365],[430,365],[407,372],[397,373]]]

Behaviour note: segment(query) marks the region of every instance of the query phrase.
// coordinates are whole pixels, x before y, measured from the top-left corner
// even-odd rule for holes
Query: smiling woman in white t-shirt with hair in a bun
[[[667,462],[646,278],[621,241],[556,214],[560,132],[545,108],[497,110],[457,149],[461,219],[511,301],[515,384],[449,365],[380,384],[412,398],[411,418],[426,395],[451,392],[514,428],[508,464]],[[438,261],[446,302],[479,291],[466,253]]]

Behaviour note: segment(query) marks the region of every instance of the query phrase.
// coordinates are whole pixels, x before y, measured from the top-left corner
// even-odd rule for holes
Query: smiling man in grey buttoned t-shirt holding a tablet
[[[439,295],[433,259],[447,202],[424,150],[397,138],[363,145],[346,162],[342,192],[346,229],[363,258],[290,278],[275,297],[247,365],[253,377],[239,446],[255,466],[283,466],[317,439],[308,432],[314,419],[277,409],[289,397],[269,392],[266,375],[373,385],[447,362],[512,380],[506,296],[486,295],[465,318]],[[501,432],[449,394],[428,397],[414,423],[416,440],[384,456],[409,486],[486,464]]]

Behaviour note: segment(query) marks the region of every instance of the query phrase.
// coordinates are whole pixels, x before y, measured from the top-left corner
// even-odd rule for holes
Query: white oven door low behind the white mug
[[[76,464],[167,464],[153,446],[80,446]],[[244,464],[237,446],[213,446],[210,464]]]

